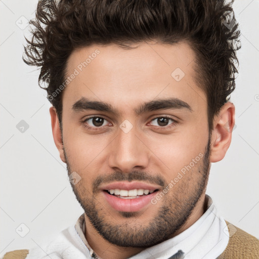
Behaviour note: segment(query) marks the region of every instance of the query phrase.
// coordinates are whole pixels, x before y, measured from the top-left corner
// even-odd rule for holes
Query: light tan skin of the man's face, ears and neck
[[[206,95],[194,81],[195,54],[187,42],[176,45],[142,42],[136,47],[126,50],[110,44],[75,50],[68,59],[67,75],[72,74],[78,64],[96,49],[100,54],[63,91],[63,132],[55,108],[50,108],[53,137],[60,157],[67,163],[69,174],[76,171],[81,177],[76,185],[71,186],[84,211],[92,211],[85,213],[86,238],[97,255],[105,255],[107,259],[127,258],[154,245],[152,235],[148,234],[150,224],[155,226],[157,223],[170,230],[169,233],[164,231],[164,236],[157,235],[159,243],[183,232],[201,217],[206,206],[209,163],[224,158],[235,124],[235,107],[227,102],[214,117],[207,161],[203,156],[156,204],[149,203],[136,213],[126,214],[113,209],[100,190],[102,183],[94,189],[98,177],[107,179],[111,176],[116,182],[119,179],[115,172],[124,180],[130,175],[136,177],[135,172],[143,172],[147,176],[145,180],[134,180],[148,183],[158,177],[164,181],[161,191],[198,154],[205,155],[209,144]],[[185,73],[180,81],[171,76],[176,68]],[[106,102],[118,113],[73,111],[73,104],[82,97]],[[191,111],[185,108],[159,109],[136,115],[135,109],[143,103],[168,97],[186,102]],[[96,127],[93,120],[82,122],[93,115],[105,118],[101,128]],[[157,118],[163,116],[172,120],[159,127]],[[128,133],[119,127],[125,119],[133,125]],[[92,129],[85,128],[85,124]],[[93,130],[93,127],[98,129]],[[202,189],[201,183],[204,185]],[[163,218],[164,213],[159,214],[166,208],[171,219],[168,222]],[[104,229],[115,231],[119,226],[114,236],[100,234],[91,220],[94,209],[92,216],[103,221]],[[179,212],[181,209],[182,213]],[[146,234],[141,236],[141,233]],[[124,245],[116,244],[118,237]],[[131,245],[141,243],[144,238],[145,245]]]

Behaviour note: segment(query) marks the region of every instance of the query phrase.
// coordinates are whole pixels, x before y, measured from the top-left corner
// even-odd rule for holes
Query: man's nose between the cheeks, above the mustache
[[[118,129],[118,135],[110,144],[108,164],[113,170],[131,172],[144,169],[149,162],[149,149],[138,134],[136,127],[129,132]]]

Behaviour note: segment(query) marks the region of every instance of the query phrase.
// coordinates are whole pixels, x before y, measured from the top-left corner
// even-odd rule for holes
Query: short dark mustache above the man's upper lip
[[[93,182],[93,192],[96,193],[99,190],[101,184],[108,184],[111,182],[133,182],[133,181],[145,181],[150,184],[165,186],[165,179],[161,176],[152,176],[145,171],[132,171],[128,173],[115,171],[108,176],[99,176]]]

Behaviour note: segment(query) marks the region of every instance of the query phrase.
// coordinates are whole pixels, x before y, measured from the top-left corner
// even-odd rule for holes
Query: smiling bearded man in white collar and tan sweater
[[[230,146],[239,34],[224,1],[40,1],[24,61],[84,209],[4,258],[258,258],[205,194]],[[13,257],[11,257],[13,256]]]

